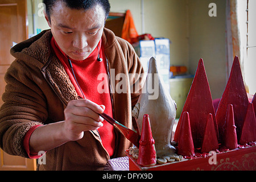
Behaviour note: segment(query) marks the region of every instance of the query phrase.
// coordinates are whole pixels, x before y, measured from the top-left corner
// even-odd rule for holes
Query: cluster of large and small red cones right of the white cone
[[[255,109],[254,109],[255,108]],[[230,150],[240,144],[256,141],[256,98],[249,103],[238,57],[216,114],[203,59],[200,59],[191,89],[178,122],[174,140],[179,155],[194,156],[195,148],[201,152],[217,150],[219,146]]]

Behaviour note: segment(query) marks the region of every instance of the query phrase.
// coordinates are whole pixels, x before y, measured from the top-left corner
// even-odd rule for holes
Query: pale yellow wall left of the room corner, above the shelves
[[[144,33],[170,39],[171,64],[188,66],[187,0],[144,0]],[[142,34],[139,0],[110,0],[111,11],[131,10],[138,34]]]

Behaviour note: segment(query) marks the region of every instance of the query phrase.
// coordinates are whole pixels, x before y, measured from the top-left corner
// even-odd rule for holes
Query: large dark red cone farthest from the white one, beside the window
[[[226,84],[226,88],[222,94],[220,103],[218,104],[218,109],[216,111],[220,143],[223,143],[224,140],[224,124],[226,119],[226,108],[228,105],[233,105],[234,121],[237,127],[237,137],[239,140],[248,102],[245,85],[243,84],[240,63],[238,57],[236,56],[233,61],[228,83]]]

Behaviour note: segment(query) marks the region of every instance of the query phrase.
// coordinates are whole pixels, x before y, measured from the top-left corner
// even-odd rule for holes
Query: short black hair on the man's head
[[[77,10],[89,10],[90,8],[100,5],[104,10],[106,17],[109,16],[110,3],[109,0],[43,0],[44,5],[46,5],[46,14],[50,20],[52,7],[56,2],[64,2],[67,7]]]

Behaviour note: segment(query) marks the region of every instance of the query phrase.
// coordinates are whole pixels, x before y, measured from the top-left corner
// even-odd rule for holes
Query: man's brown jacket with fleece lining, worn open
[[[51,38],[50,30],[43,31],[11,49],[16,60],[5,75],[7,85],[0,109],[0,147],[8,154],[28,158],[23,148],[26,132],[35,125],[63,121],[68,102],[78,98],[63,65],[52,52]],[[126,83],[123,86],[127,93],[112,94],[113,117],[131,128],[131,109],[137,103],[144,80],[139,76],[143,73],[142,65],[133,47],[106,28],[102,44],[108,59],[112,92],[118,82]],[[115,79],[119,73],[130,77]],[[131,93],[130,88],[138,88],[134,86],[138,82],[139,90]],[[118,131],[116,134],[114,156],[124,156],[131,143]],[[82,139],[47,151],[46,164],[41,164],[39,169],[101,170],[108,160],[108,152],[102,146],[97,130],[86,131]]]

